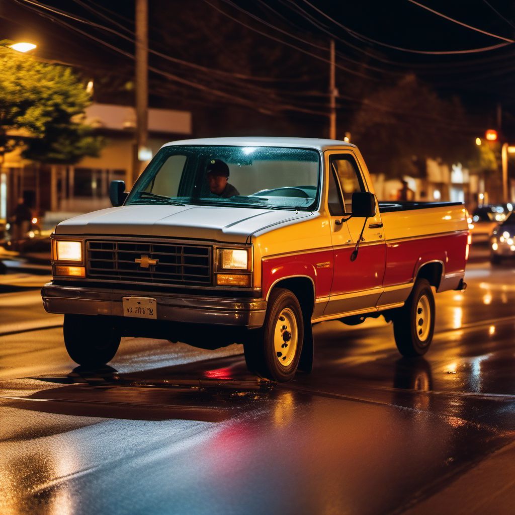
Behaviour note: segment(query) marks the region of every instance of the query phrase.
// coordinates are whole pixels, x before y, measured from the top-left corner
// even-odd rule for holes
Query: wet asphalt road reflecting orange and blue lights
[[[425,358],[382,318],[318,324],[312,374],[277,385],[239,346],[143,338],[81,371],[4,278],[0,513],[512,513],[514,279],[471,263]]]

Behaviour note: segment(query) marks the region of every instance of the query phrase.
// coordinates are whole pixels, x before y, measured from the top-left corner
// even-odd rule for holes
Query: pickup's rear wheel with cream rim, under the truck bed
[[[422,356],[435,331],[435,298],[426,279],[417,279],[403,307],[393,316],[393,335],[399,352],[406,357]]]

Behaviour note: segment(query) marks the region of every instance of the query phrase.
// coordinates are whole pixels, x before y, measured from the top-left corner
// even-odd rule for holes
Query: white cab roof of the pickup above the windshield
[[[199,138],[195,140],[171,141],[163,147],[175,145],[235,146],[235,147],[291,147],[313,148],[324,151],[330,149],[356,148],[352,143],[339,140],[322,140],[316,138],[265,138],[249,136],[240,138]]]

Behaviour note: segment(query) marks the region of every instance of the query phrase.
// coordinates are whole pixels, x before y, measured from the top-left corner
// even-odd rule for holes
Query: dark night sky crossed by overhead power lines
[[[316,113],[327,110],[325,60],[333,37],[339,116],[352,113],[362,94],[413,72],[441,96],[459,96],[475,127],[495,127],[500,105],[505,135],[515,138],[515,44],[506,41],[515,39],[515,3],[419,4],[496,37],[409,0],[151,0],[150,48],[207,69],[150,55],[150,65],[160,71],[150,72],[150,104],[210,110],[209,123],[220,110],[239,108],[242,118],[255,113],[262,127],[272,125],[277,104],[286,106],[283,115],[289,106],[289,116],[320,124]],[[134,2],[4,0],[0,24],[0,39],[36,42],[37,57],[74,64],[85,79],[94,78],[97,100],[133,101]],[[494,45],[501,46],[438,54]]]

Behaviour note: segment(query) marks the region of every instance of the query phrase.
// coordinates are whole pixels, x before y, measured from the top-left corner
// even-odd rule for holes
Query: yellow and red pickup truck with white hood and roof
[[[216,184],[215,184],[216,183]],[[52,236],[49,313],[78,364],[122,336],[243,344],[247,367],[288,381],[313,366],[313,324],[383,315],[404,356],[434,332],[434,291],[463,290],[460,202],[378,202],[356,146],[302,138],[164,145],[113,208]]]

